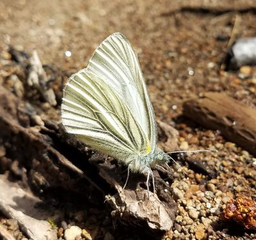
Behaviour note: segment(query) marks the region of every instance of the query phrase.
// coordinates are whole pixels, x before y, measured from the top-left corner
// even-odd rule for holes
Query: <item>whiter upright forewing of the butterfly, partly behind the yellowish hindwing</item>
[[[95,50],[87,70],[111,86],[125,101],[147,135],[150,151],[155,151],[157,131],[154,110],[138,57],[127,38],[120,33],[106,38]]]

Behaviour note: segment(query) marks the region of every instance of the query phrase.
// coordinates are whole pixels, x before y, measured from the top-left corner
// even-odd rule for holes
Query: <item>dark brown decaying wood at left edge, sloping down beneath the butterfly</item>
[[[61,188],[69,193],[80,194],[84,192],[84,184],[92,184],[99,190],[92,190],[92,196],[95,197],[93,202],[97,202],[97,199],[100,199],[99,193],[102,196],[104,191],[97,185],[97,181],[90,178],[93,175],[90,164],[88,163],[83,170],[72,164],[54,148],[61,144],[49,137],[51,135],[54,139],[54,133],[44,126],[30,126],[30,118],[26,103],[0,86],[0,140],[4,143],[4,151],[8,153],[6,157],[19,161],[19,165],[29,169],[27,176],[38,190]],[[65,154],[66,151],[73,150],[70,154],[74,154],[75,158],[79,156],[79,153],[72,147],[67,147],[67,144],[62,148]],[[84,174],[86,170],[88,173]]]

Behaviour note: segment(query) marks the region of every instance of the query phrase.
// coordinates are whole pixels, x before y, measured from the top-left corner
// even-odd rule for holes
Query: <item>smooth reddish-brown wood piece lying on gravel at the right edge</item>
[[[205,93],[184,103],[184,115],[256,154],[256,109],[224,93]]]

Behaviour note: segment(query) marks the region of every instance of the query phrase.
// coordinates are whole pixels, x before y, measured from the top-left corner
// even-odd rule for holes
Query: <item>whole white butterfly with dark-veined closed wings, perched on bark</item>
[[[152,167],[170,161],[157,147],[156,119],[138,57],[121,33],[106,38],[87,68],[70,77],[61,117],[68,133],[126,165],[128,177],[129,170],[147,174],[147,186]]]

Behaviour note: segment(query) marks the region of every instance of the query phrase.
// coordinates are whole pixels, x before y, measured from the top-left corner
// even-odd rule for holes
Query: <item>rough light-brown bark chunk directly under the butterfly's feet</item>
[[[114,219],[136,227],[147,226],[148,229],[159,232],[172,229],[177,211],[177,205],[172,199],[172,188],[166,186],[169,191],[165,197],[162,195],[159,200],[157,194],[140,187],[143,180],[145,182],[146,179],[142,174],[130,174],[127,186],[123,189],[121,184],[124,185],[126,177],[124,172],[118,171],[109,161],[100,164],[99,170],[100,176],[114,186],[117,191],[113,196],[106,196],[106,202],[113,208],[111,214]],[[163,190],[158,188],[159,182],[164,181],[159,174],[155,180],[157,182],[156,192],[159,193]],[[166,201],[163,202],[163,199]]]

